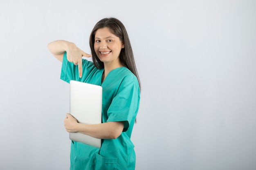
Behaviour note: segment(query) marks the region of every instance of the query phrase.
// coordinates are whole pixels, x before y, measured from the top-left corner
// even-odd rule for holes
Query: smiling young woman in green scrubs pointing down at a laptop
[[[90,35],[92,55],[64,40],[51,42],[48,48],[62,62],[61,79],[103,88],[102,124],[79,124],[66,115],[67,132],[102,139],[101,148],[72,141],[70,170],[134,170],[135,151],[130,137],[139,109],[140,83],[124,25],[116,18],[100,20]],[[93,62],[83,56],[92,56]]]

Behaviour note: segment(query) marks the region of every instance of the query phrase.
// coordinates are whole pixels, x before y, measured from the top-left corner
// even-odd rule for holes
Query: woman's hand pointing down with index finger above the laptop
[[[67,47],[67,60],[78,65],[79,77],[81,78],[83,73],[82,57],[91,57],[92,55],[85,53],[72,42]]]

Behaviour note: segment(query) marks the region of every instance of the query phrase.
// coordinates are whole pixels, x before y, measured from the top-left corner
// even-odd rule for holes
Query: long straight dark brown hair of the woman
[[[97,22],[97,24],[92,29],[92,33],[90,35],[90,48],[92,51],[92,61],[94,65],[99,69],[104,68],[104,63],[99,60],[96,52],[94,51],[95,33],[98,29],[104,27],[109,28],[111,33],[116,35],[120,41],[124,43],[124,48],[121,49],[119,60],[121,64],[128,68],[137,77],[140,87],[140,81],[133,57],[132,46],[130,44],[126,28],[124,27],[124,24],[116,18],[103,18]]]

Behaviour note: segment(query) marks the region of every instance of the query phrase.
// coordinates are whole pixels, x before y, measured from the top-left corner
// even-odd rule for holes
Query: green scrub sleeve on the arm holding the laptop
[[[122,82],[108,108],[109,121],[124,121],[124,130],[126,132],[130,125],[133,126],[139,109],[139,85],[136,81]]]

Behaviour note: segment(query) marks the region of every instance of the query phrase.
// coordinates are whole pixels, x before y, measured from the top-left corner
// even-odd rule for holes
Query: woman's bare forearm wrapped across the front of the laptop
[[[74,126],[74,131],[99,139],[116,139],[124,129],[124,122],[106,122],[102,124],[80,124]]]

